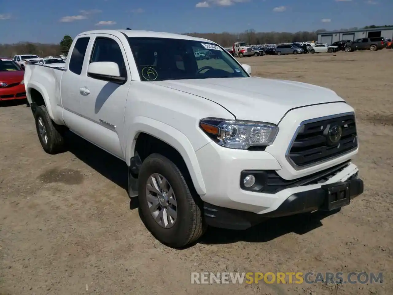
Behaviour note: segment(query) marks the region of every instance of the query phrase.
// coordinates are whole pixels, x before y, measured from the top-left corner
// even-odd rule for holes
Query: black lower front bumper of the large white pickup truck
[[[341,184],[343,183],[333,183],[331,185]],[[344,184],[349,184],[350,200],[363,193],[364,184],[361,179],[355,178]],[[276,210],[265,214],[255,214],[248,211],[223,208],[205,202],[204,216],[206,223],[210,226],[224,229],[244,230],[268,218],[290,216],[315,210],[329,211],[327,208],[326,195],[327,191],[323,187],[298,192],[287,197]],[[337,208],[340,207],[341,206],[338,206]]]

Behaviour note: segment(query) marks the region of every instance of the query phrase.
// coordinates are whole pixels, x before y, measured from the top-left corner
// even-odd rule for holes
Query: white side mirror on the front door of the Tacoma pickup
[[[120,76],[120,69],[117,63],[113,61],[97,61],[90,63],[87,68],[87,75],[99,80],[124,84],[126,77]]]

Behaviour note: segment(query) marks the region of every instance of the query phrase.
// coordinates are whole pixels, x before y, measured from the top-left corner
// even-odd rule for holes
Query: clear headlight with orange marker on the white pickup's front
[[[250,146],[269,146],[278,133],[278,127],[263,122],[205,118],[200,128],[217,144],[232,149],[248,149]]]

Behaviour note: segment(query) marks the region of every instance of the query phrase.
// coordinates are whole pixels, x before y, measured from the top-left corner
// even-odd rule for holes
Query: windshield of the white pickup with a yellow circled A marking
[[[213,43],[150,37],[128,40],[141,81],[248,77],[228,52]]]

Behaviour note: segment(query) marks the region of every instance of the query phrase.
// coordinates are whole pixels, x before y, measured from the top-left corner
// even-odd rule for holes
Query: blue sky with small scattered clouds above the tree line
[[[95,29],[312,31],[390,25],[393,0],[20,0],[3,2],[0,42],[58,43]],[[6,4],[6,5],[5,5]]]

